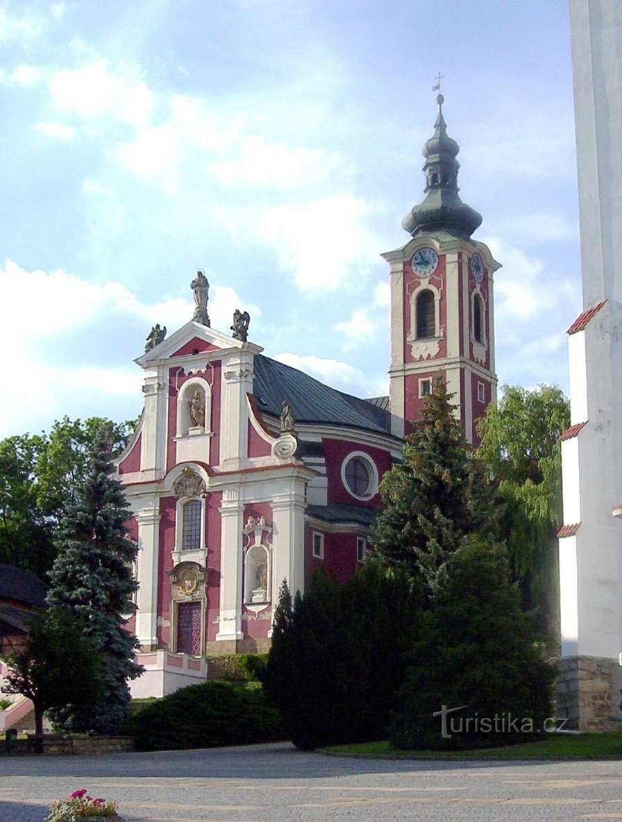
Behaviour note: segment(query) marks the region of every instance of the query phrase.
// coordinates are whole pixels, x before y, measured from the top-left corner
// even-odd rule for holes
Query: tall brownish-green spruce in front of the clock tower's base
[[[493,492],[454,418],[442,376],[433,382],[421,419],[404,439],[403,462],[380,483],[382,505],[373,537],[389,565],[421,575],[429,593],[469,533],[490,529]]]

